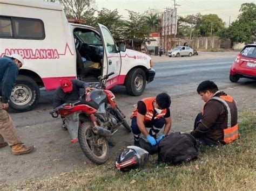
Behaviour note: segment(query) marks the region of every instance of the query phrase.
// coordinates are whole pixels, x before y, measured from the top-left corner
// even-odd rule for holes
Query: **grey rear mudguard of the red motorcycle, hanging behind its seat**
[[[65,117],[66,128],[72,138],[71,143],[76,143],[78,140],[79,114],[76,112]]]

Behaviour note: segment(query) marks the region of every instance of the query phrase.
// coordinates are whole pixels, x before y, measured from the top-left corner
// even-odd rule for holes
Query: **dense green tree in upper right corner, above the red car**
[[[238,19],[228,29],[219,33],[221,39],[231,39],[234,43],[253,43],[256,33],[256,4],[241,5]]]

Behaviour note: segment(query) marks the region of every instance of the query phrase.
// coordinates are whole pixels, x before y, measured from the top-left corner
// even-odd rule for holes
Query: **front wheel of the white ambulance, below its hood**
[[[126,76],[125,87],[132,96],[142,95],[146,87],[146,74],[141,68],[132,69]]]

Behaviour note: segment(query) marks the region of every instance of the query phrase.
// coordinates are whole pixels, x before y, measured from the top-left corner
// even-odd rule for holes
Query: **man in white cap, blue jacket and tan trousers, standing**
[[[9,107],[9,97],[14,87],[18,70],[24,61],[18,54],[6,55],[0,58],[0,148],[9,145],[15,155],[29,153],[35,146],[24,145],[14,127],[11,116],[6,109]],[[6,142],[4,142],[4,139]]]

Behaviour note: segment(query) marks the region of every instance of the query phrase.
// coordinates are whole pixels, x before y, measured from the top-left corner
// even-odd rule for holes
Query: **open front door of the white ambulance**
[[[103,75],[114,72],[106,82],[106,87],[109,89],[118,83],[121,70],[121,54],[109,29],[102,24],[98,25],[104,46]]]

